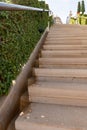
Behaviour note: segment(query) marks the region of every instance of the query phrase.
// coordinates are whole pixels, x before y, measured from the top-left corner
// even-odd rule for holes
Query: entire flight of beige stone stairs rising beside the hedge
[[[87,27],[54,25],[39,55],[16,130],[87,130]]]

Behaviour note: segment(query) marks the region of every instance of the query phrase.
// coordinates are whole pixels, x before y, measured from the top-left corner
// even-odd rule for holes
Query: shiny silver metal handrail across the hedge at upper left
[[[6,2],[0,2],[0,10],[6,11],[20,11],[20,10],[33,10],[33,11],[40,11],[40,12],[49,12],[49,10],[42,9],[42,8],[35,8],[30,6],[23,6],[18,4],[9,4]]]

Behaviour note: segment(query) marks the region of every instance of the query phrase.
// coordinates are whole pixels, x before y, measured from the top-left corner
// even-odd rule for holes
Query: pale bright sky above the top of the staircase
[[[63,23],[66,21],[70,10],[73,15],[76,15],[78,1],[82,0],[45,0],[49,4],[50,9],[53,11],[55,16],[61,17]],[[87,7],[87,0],[85,1],[85,6]]]

